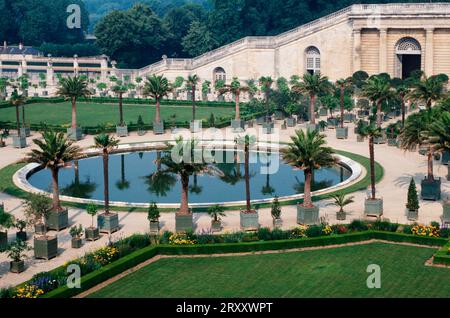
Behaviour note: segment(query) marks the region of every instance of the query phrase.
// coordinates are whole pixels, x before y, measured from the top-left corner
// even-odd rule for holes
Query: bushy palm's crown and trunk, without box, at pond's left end
[[[43,139],[34,139],[33,143],[38,147],[31,150],[24,159],[25,162],[40,164],[43,168],[50,169],[52,173],[53,187],[53,211],[63,211],[59,201],[59,169],[68,162],[82,157],[81,148],[68,141],[63,133],[45,131]]]

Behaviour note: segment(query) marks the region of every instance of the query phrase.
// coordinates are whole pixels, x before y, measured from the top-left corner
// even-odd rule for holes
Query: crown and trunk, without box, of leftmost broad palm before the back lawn
[[[77,128],[77,100],[88,97],[92,93],[88,89],[88,82],[85,77],[74,76],[61,78],[57,95],[70,100],[72,103],[72,129]]]

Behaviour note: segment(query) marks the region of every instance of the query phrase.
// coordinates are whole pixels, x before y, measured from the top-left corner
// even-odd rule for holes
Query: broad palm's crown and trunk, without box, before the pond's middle
[[[157,164],[165,166],[157,173],[176,174],[181,181],[181,200],[178,215],[190,215],[189,213],[189,178],[194,174],[220,174],[220,171],[205,162],[194,162],[194,150],[198,149],[198,141],[186,140],[182,137],[175,141],[175,145],[168,145],[168,150],[161,158],[157,159]],[[189,151],[189,152],[187,152]],[[174,161],[173,155],[180,160]]]

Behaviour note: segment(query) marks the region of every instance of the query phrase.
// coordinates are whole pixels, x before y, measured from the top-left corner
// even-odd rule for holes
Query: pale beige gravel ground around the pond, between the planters
[[[280,127],[281,122],[277,123],[277,128]],[[353,133],[353,124],[349,126],[349,138],[347,140],[338,140],[335,137],[335,130],[328,129],[325,133],[329,146],[356,154],[368,157],[369,149],[368,143],[356,142],[356,135]],[[289,141],[289,137],[294,133],[296,128],[288,128],[287,130],[280,130],[280,141]],[[297,127],[298,129],[298,127]],[[34,133],[31,138],[27,138],[31,143],[32,138],[39,137],[38,133]],[[144,136],[138,136],[136,133],[131,133],[129,137],[120,138],[121,143],[135,143],[146,141],[161,141],[170,139],[170,133],[165,135],[155,136],[151,132]],[[21,159],[30,147],[25,149],[14,149],[11,146],[11,139],[7,140],[8,147],[0,150],[0,168],[3,168],[11,163]],[[78,143],[81,147],[90,147],[93,144],[93,136],[86,136]],[[408,223],[406,218],[406,196],[409,181],[414,177],[418,190],[420,190],[420,181],[424,178],[427,170],[426,157],[421,156],[418,152],[404,152],[396,147],[389,147],[387,144],[375,146],[376,160],[385,169],[383,180],[377,185],[378,196],[384,199],[384,215],[383,217],[392,222]],[[365,172],[366,173],[366,172]],[[435,162],[435,175],[441,177],[442,183],[442,198],[450,198],[450,182],[445,181],[447,175],[447,167]],[[352,194],[355,196],[355,203],[347,206],[347,221],[352,219],[363,218],[364,199],[367,196],[367,191],[359,191]],[[18,218],[23,218],[23,207],[20,199],[0,193],[0,202],[4,202],[7,211],[13,213]],[[330,206],[331,200],[323,200],[317,202],[320,207],[320,215],[325,217],[329,223],[337,223],[335,213],[336,207]],[[429,223],[431,221],[440,221],[442,215],[442,202],[421,201],[419,211],[419,223]],[[272,227],[272,218],[270,209],[259,210],[259,220],[263,227]],[[85,211],[71,208],[69,210],[69,219],[71,224],[82,224],[84,227],[89,226],[91,218]],[[283,228],[292,228],[296,226],[296,207],[285,206],[282,207]],[[59,233],[50,232],[50,235],[58,235],[59,255],[50,261],[35,260],[32,258],[32,252],[29,252],[29,258],[26,260],[28,266],[27,270],[20,274],[9,273],[9,260],[5,254],[0,254],[0,287],[9,285],[16,285],[20,282],[30,279],[34,274],[42,271],[48,271],[55,267],[64,264],[66,261],[84,255],[87,251],[95,250],[100,246],[104,246],[109,239],[117,240],[121,237],[126,237],[132,233],[145,233],[148,231],[148,221],[146,213],[128,213],[120,212],[119,220],[121,230],[112,234],[111,237],[104,235],[96,242],[86,243],[81,249],[71,248],[71,237],[68,230]],[[207,230],[210,227],[210,217],[206,213],[194,214],[194,221],[197,225],[197,231]],[[232,232],[239,230],[239,211],[227,212],[226,217],[223,218],[224,231]],[[175,228],[174,213],[163,213],[161,217],[162,230],[173,231]],[[11,229],[9,232],[9,239],[13,240],[15,237],[15,230]]]

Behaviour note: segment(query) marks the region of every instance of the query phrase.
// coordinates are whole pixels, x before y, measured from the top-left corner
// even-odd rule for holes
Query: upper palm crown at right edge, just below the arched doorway
[[[414,101],[424,102],[427,109],[430,109],[434,102],[444,98],[444,86],[448,82],[445,74],[430,77],[422,76],[420,80],[413,81],[409,98]]]

